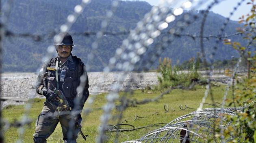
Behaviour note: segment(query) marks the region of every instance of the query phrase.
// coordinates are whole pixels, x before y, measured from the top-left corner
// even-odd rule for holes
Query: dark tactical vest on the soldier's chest
[[[74,98],[76,97],[76,88],[79,85],[79,73],[78,69],[80,65],[83,65],[81,59],[77,58],[76,56],[72,56],[73,62],[68,61],[67,63],[67,69],[66,69],[66,74],[65,74],[65,80],[62,85],[62,92],[67,98]],[[55,65],[57,62],[57,57],[50,59],[48,62],[48,68],[46,71],[48,72],[46,80],[43,80],[44,86],[47,88],[50,88],[51,90],[54,90],[57,88],[57,81],[55,77]],[[61,88],[60,87],[60,88]]]

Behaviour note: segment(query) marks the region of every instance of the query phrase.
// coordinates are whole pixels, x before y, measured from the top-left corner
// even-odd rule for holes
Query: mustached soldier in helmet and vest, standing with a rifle
[[[68,33],[61,33],[60,35],[63,40],[54,44],[58,56],[43,64],[37,78],[36,91],[38,94],[44,95],[46,101],[43,103],[43,109],[36,121],[35,133],[33,134],[35,143],[46,143],[46,139],[52,134],[58,122],[61,124],[64,143],[76,143],[78,127],[74,126],[74,122],[78,122],[80,125],[82,120],[80,113],[89,97],[89,84],[87,72],[84,68],[85,65],[81,59],[71,54],[74,46],[72,36]],[[87,79],[83,87],[83,94],[80,95],[80,92],[77,93],[76,88],[80,84],[82,75],[85,75]],[[67,111],[64,111],[63,108],[63,111],[60,110],[61,104],[58,95],[53,92],[54,89],[63,92],[72,107],[72,111],[75,110],[78,113],[76,116],[71,116],[70,112],[67,114]],[[78,97],[79,99],[77,100]],[[73,109],[74,107],[76,109]],[[57,108],[61,112],[56,112]],[[73,125],[71,121],[73,121]]]

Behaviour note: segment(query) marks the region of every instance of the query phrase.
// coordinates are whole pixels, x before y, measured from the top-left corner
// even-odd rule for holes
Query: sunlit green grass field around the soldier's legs
[[[202,97],[204,96],[205,86],[196,86],[196,90],[173,90],[169,94],[164,95],[162,99],[160,99],[157,102],[153,103],[147,103],[144,105],[137,105],[135,107],[128,107],[124,112],[122,118],[119,120],[120,122],[126,120],[128,122],[124,122],[124,124],[132,124],[135,126],[135,128],[141,127],[141,126],[147,126],[150,124],[156,124],[156,123],[168,123],[171,120],[178,118],[179,116],[182,116],[184,114],[188,114],[192,111],[195,111],[197,107],[199,107],[200,102],[202,101]],[[225,86],[220,87],[213,87],[213,94],[215,98],[215,102],[222,102],[223,93],[225,91]],[[129,99],[137,99],[138,101],[141,101],[143,99],[148,98],[155,98],[160,93],[141,93],[141,90],[133,91],[133,94],[126,95],[129,97]],[[87,143],[94,143],[95,139],[98,135],[98,126],[100,125],[100,116],[103,113],[102,107],[106,103],[106,97],[107,94],[101,94],[98,95],[95,103],[93,103],[92,111],[88,116],[83,116],[83,122],[82,122],[82,131],[85,134],[88,134],[89,137],[87,137]],[[120,93],[120,96],[124,96],[124,93]],[[90,98],[90,97],[89,97]],[[228,95],[229,99],[231,98],[231,93]],[[31,101],[29,101],[31,102]],[[24,137],[24,143],[32,143],[33,142],[33,133],[35,131],[35,121],[37,119],[37,116],[41,112],[41,109],[43,107],[44,99],[34,99],[33,106],[29,110],[29,118],[32,119],[32,123],[30,125],[24,126],[24,134],[22,137]],[[206,103],[212,103],[210,100],[210,97],[206,99]],[[120,104],[119,102],[116,103],[117,105]],[[165,113],[164,105],[169,106],[169,111]],[[228,104],[228,103],[226,103]],[[28,105],[28,104],[26,104]],[[194,109],[185,109],[180,110],[180,105],[185,107],[187,105],[190,108]],[[85,104],[85,107],[87,106],[87,103]],[[212,107],[210,105],[205,104],[204,108]],[[2,116],[4,120],[7,120],[8,122],[14,122],[15,120],[21,120],[24,116],[24,105],[18,105],[13,106],[10,105],[8,107],[5,107],[2,110]],[[158,112],[158,114],[154,114]],[[113,115],[119,114],[119,111],[117,109],[114,109],[112,111]],[[153,115],[154,114],[154,115]],[[135,116],[145,117],[145,118],[137,118],[135,120]],[[135,120],[135,121],[134,121]],[[115,125],[120,123],[115,118],[111,119],[108,124]],[[154,130],[159,127],[150,127],[150,128],[143,128],[135,131],[129,131],[129,132],[119,132],[119,140],[118,142],[122,141],[128,141],[133,139],[139,139],[141,136],[145,135],[146,133],[150,132],[151,130]],[[19,139],[19,132],[20,128],[8,128],[5,129],[4,137],[6,143],[14,143]],[[114,142],[115,136],[117,132],[106,132],[106,135],[109,137],[108,142],[112,143]],[[61,132],[61,126],[58,124],[57,128],[55,129],[54,133],[47,139],[48,143],[58,143],[59,141],[62,141],[62,132]],[[78,143],[83,142],[83,139],[80,135],[78,135]],[[63,142],[63,141],[62,141]]]

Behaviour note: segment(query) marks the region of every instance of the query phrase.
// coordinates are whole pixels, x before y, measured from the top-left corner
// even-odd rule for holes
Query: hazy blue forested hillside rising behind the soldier
[[[74,50],[73,55],[77,55],[87,63],[87,54],[91,52],[91,44],[95,41],[95,33],[101,27],[101,22],[106,19],[106,12],[111,9],[113,0],[92,0],[85,7],[84,12],[78,17],[76,23],[72,26],[70,34],[73,36]],[[4,1],[6,2],[6,1]],[[3,5],[3,3],[1,5]],[[74,11],[74,7],[80,4],[80,0],[14,0],[9,17],[7,29],[13,34],[33,34],[39,35],[40,39],[34,40],[26,36],[7,36],[4,39],[4,55],[3,55],[3,71],[36,71],[42,64],[42,57],[47,53],[47,47],[53,43],[54,34],[59,32],[59,27],[65,23],[69,14]],[[152,6],[147,2],[140,1],[122,1],[117,7],[114,16],[111,19],[106,32],[129,32],[135,28],[137,22],[142,19],[145,13],[151,10]],[[183,34],[196,34],[199,36],[200,26],[203,15],[198,11],[189,11],[199,18],[193,22]],[[4,15],[5,13],[2,13]],[[180,16],[181,17],[181,16]],[[178,19],[178,18],[177,18]],[[225,18],[221,15],[210,12],[204,27],[204,35],[216,35]],[[176,22],[169,25],[165,32]],[[235,28],[239,27],[237,21],[230,21],[225,29],[224,34],[236,33]],[[82,34],[82,33],[89,34]],[[115,49],[121,46],[122,40],[128,37],[124,35],[105,35],[98,41],[99,49],[95,53],[96,57],[90,63],[91,71],[102,71],[104,66],[108,64],[109,59],[114,55]],[[162,36],[159,36],[146,52],[142,60],[138,63],[142,67],[143,61],[148,60],[148,55],[155,52],[155,44],[161,43]],[[241,36],[232,37],[234,41],[241,41]],[[195,39],[200,40],[200,39]],[[200,51],[199,42],[195,42],[190,37],[176,38],[170,43],[161,57],[169,57],[174,62],[186,61],[191,57],[195,57]],[[195,44],[196,43],[196,44]],[[243,43],[243,42],[242,42]],[[215,39],[205,39],[204,45],[206,53],[211,53]],[[222,43],[218,45],[216,59],[230,59],[236,56],[234,50],[230,46],[224,46]],[[208,55],[207,55],[208,56]],[[156,60],[152,68],[155,68],[158,61]],[[142,68],[140,68],[142,69]]]

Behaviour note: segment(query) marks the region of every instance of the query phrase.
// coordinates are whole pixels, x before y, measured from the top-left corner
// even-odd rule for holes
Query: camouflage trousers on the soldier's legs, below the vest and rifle
[[[54,132],[57,124],[60,122],[63,133],[63,140],[76,141],[78,136],[78,127],[74,126],[74,121],[71,122],[71,118],[67,114],[54,117],[54,108],[48,101],[43,103],[43,109],[39,114],[36,124],[34,137],[48,138]],[[82,121],[81,115],[78,115],[78,124]]]

